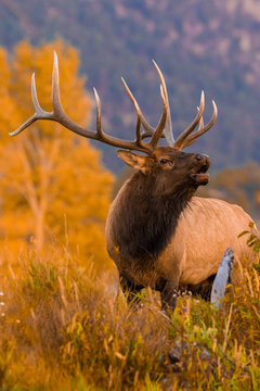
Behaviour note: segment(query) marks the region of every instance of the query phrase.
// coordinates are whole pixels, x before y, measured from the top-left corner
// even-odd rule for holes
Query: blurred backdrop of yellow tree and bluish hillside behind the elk
[[[176,135],[193,121],[204,89],[205,121],[212,99],[219,115],[191,148],[211,159],[211,182],[200,194],[238,203],[259,222],[259,34],[257,0],[1,0],[0,237],[5,245],[35,243],[42,251],[47,242],[66,243],[102,264],[109,201],[129,175],[121,174],[115,148],[90,146],[52,123],[37,123],[15,139],[8,136],[34,113],[32,72],[39,100],[51,110],[53,49],[68,114],[94,129],[95,87],[103,128],[120,138],[132,139],[135,127],[121,76],[156,125],[161,102],[152,60],[157,62]]]

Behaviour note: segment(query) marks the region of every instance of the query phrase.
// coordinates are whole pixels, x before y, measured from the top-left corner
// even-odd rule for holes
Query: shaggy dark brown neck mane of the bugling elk
[[[170,242],[194,192],[182,184],[165,194],[157,185],[156,177],[139,172],[118,194],[110,229],[125,260],[156,260]]]

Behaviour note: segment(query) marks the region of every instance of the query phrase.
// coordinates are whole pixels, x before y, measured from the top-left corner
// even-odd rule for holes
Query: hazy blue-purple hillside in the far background
[[[257,0],[0,2],[0,45],[10,51],[22,39],[38,45],[57,36],[79,49],[87,88],[96,87],[104,128],[113,135],[132,138],[135,126],[121,75],[148,121],[157,123],[161,106],[152,59],[165,74],[177,133],[193,119],[205,89],[206,117],[214,99],[219,118],[193,149],[208,153],[214,169],[260,163],[259,33]],[[114,149],[103,150],[105,164],[120,169]]]

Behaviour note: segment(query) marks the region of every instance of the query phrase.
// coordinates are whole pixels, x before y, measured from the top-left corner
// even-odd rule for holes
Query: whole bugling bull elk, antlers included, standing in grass
[[[205,125],[205,97],[202,92],[197,115],[174,140],[168,93],[164,76],[154,62],[160,79],[162,114],[156,128],[145,119],[142,111],[122,79],[136,111],[135,140],[127,141],[105,134],[101,124],[101,103],[96,90],[96,131],[84,129],[64,112],[60,99],[57,56],[54,53],[52,76],[53,111],[41,109],[36,91],[35,75],[31,96],[36,113],[16,131],[17,135],[35,121],[51,119],[77,135],[118,147],[119,157],[138,169],[122,186],[112,203],[106,222],[106,244],[115,262],[121,287],[129,299],[144,287],[158,290],[161,306],[174,308],[177,291],[188,288],[205,292],[211,287],[220,261],[227,248],[235,258],[252,260],[252,252],[238,234],[248,228],[251,218],[239,206],[222,200],[193,197],[199,186],[208,184],[210,160],[205,154],[183,152],[216,122],[217,106]],[[144,141],[150,137],[150,140]],[[166,137],[168,147],[158,147]],[[132,151],[139,151],[134,153]],[[257,232],[257,229],[256,229]]]

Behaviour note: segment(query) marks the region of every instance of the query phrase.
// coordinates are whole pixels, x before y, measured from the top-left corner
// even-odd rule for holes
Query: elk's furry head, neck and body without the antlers
[[[140,168],[114,200],[106,223],[107,250],[125,288],[150,286],[161,292],[162,306],[174,308],[180,287],[195,292],[211,282],[229,247],[236,260],[252,260],[245,238],[237,237],[250,216],[221,200],[192,198],[207,182],[208,156],[170,147],[150,157],[120,156]]]

